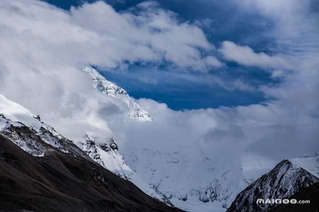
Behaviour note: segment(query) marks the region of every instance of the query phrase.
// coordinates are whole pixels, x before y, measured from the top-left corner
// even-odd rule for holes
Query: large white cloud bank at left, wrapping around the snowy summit
[[[38,0],[1,1],[0,46],[0,93],[74,137],[81,130],[67,129],[110,134],[108,121],[122,120],[127,109],[92,91],[81,72],[87,65],[168,63],[194,71],[220,66],[206,56],[214,46],[200,28],[154,1],[121,13],[103,1],[70,11]]]

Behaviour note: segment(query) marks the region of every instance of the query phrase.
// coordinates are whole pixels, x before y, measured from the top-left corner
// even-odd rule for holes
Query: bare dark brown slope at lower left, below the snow
[[[12,127],[12,126],[11,126]],[[106,170],[72,142],[61,152],[26,126],[15,133],[43,146],[35,157],[0,133],[0,211],[177,212]]]

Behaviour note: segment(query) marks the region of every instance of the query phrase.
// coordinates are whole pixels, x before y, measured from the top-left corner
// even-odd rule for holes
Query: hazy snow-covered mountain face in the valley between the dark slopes
[[[248,167],[205,154],[193,153],[194,158],[185,146],[167,152],[138,147],[126,158],[130,167],[175,207],[190,212],[225,212],[240,191],[270,170],[262,162]]]

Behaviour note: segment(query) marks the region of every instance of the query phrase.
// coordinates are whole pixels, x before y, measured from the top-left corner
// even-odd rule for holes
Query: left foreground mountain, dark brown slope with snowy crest
[[[116,146],[108,143],[106,148]],[[4,212],[180,211],[100,166],[39,116],[3,96],[0,170]]]

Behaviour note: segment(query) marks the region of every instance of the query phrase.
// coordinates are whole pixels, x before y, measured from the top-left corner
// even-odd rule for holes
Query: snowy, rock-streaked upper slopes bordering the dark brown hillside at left
[[[7,114],[8,117],[14,120],[22,120],[28,123],[27,126],[21,122],[12,121],[0,113],[0,133],[6,135],[17,146],[33,156],[43,157],[49,150],[43,142],[41,144],[41,142],[38,142],[35,139],[20,136],[19,130],[21,129],[31,130],[46,144],[59,149],[63,153],[73,155],[79,154],[76,145],[72,141],[62,136],[50,125],[42,122],[39,115],[33,115],[23,106],[7,100],[2,95],[0,96],[0,112]],[[123,179],[131,181],[151,197],[171,205],[168,199],[157,194],[149,185],[144,183],[134,171],[132,171],[124,158],[120,155],[118,146],[113,138],[106,138],[104,143],[98,144],[90,133],[86,133],[84,140],[83,143],[79,143],[78,145],[95,162]],[[83,152],[81,155],[83,156]]]

